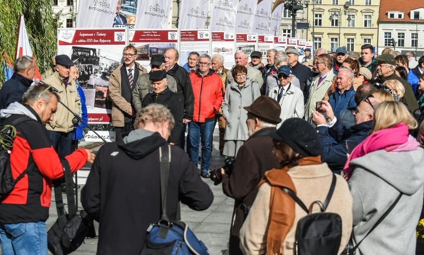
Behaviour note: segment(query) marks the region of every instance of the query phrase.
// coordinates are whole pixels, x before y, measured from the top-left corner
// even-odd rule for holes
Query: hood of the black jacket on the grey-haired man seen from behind
[[[123,139],[118,139],[118,147],[130,158],[139,160],[154,152],[166,143],[158,132],[135,129]]]

